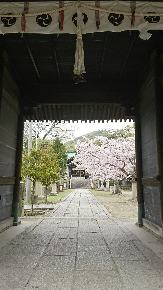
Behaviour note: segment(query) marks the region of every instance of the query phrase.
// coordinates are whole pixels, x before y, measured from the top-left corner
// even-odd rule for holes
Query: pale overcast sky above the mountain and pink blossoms
[[[93,121],[91,123],[89,123],[89,121],[87,121],[87,123],[85,122],[80,123],[80,121],[79,123],[76,123],[76,122],[72,123],[72,121],[70,123],[68,122],[66,123],[67,123],[67,126],[71,124],[78,127],[78,130],[74,131],[74,135],[75,137],[79,137],[87,133],[90,133],[92,131],[98,131],[98,130],[103,130],[103,129],[108,129],[108,128],[119,129],[119,128],[124,128],[128,124],[132,126],[133,121],[131,120],[130,123],[129,121],[124,122],[124,120],[122,120],[121,123],[120,121],[116,123],[115,120],[113,120],[113,123],[111,123],[111,121],[107,123],[106,120],[104,121],[104,123],[102,123],[102,121],[100,121],[100,123],[98,123],[98,121],[96,121],[96,123],[94,123]]]

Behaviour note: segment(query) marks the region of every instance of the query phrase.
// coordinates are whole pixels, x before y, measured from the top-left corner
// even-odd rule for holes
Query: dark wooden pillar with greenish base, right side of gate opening
[[[138,223],[142,227],[144,218],[144,196],[142,186],[142,144],[141,144],[141,122],[140,115],[135,116],[135,154],[136,154],[136,179],[137,179],[137,197],[138,197]]]

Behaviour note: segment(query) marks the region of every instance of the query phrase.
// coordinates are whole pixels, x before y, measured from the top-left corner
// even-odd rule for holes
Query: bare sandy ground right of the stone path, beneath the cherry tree
[[[96,198],[106,207],[114,218],[137,218],[137,199],[132,200],[131,191],[122,191],[120,194],[91,191]]]

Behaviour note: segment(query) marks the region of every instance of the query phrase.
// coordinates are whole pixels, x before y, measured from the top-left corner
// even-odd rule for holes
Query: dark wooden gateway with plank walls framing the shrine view
[[[68,4],[65,1],[65,6],[70,2],[73,1]],[[133,119],[138,226],[144,224],[162,237],[163,16],[143,16],[148,32],[140,32],[137,29],[140,17],[133,17],[137,10],[131,9],[130,1],[90,1],[89,5],[97,7],[99,2],[101,7],[114,11],[122,11],[122,7],[116,6],[122,2],[124,11],[127,9],[131,16],[127,16],[127,24],[124,23],[126,16],[121,14],[105,12],[104,19],[104,12],[98,14],[90,10],[89,17],[90,8],[81,5],[86,15],[83,14],[82,20],[86,29],[82,31],[86,73],[81,75],[73,73],[77,42],[77,21],[73,17],[77,16],[77,6],[72,12],[71,9],[64,11],[64,21],[61,11],[30,20],[34,16],[25,16],[30,11],[49,11],[63,5],[45,0],[30,1],[28,9],[24,8],[24,2],[0,3],[3,15],[0,26],[0,231],[13,222],[17,224],[18,220],[24,121],[121,122]],[[142,11],[140,3],[148,3],[147,8]],[[136,5],[138,12],[143,13],[159,14],[163,10],[163,3],[159,1],[136,1]],[[20,15],[9,17],[10,13],[24,13],[24,31]],[[66,13],[70,13],[67,25]],[[5,18],[5,15],[8,16]],[[30,21],[33,21],[31,26]],[[139,37],[142,33],[144,39]],[[149,37],[147,33],[149,39],[145,39]]]

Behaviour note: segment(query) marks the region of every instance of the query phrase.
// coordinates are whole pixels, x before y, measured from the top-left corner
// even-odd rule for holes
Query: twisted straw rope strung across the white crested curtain
[[[78,6],[78,3],[74,3],[74,4],[69,5],[69,6],[56,8],[56,9],[49,10],[49,11],[25,14],[25,17],[37,16],[37,15],[43,15],[43,14],[49,14],[49,13],[55,13],[55,12],[59,12],[59,11],[62,11],[62,10],[67,10],[67,9],[70,9],[70,8],[73,8],[73,7],[76,7],[76,6]],[[85,7],[85,8],[88,8],[88,9],[105,12],[105,13],[114,13],[114,14],[132,16],[131,12],[122,12],[122,11],[114,11],[114,10],[109,10],[109,9],[103,9],[103,8],[99,8],[99,7],[90,6],[90,5],[87,5],[87,4],[84,4],[84,3],[81,3],[81,6]],[[11,17],[11,14],[1,14],[0,16],[1,17]],[[12,14],[12,17],[21,17],[21,16],[22,16],[22,14]],[[163,13],[135,13],[135,16],[163,16]]]

